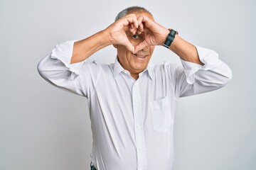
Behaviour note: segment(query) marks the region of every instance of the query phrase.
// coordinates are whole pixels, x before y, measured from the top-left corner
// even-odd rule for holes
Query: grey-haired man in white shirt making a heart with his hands
[[[107,45],[117,49],[114,64],[85,62]],[[182,66],[149,64],[156,45],[175,52]],[[220,89],[232,77],[216,52],[186,42],[139,6],[89,38],[56,45],[38,72],[88,98],[91,169],[97,170],[172,169],[178,98]]]

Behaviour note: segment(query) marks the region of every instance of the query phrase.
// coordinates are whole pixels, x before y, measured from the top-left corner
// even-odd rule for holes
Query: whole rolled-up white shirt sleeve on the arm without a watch
[[[87,97],[97,79],[96,63],[70,64],[75,40],[62,42],[38,63],[38,72],[50,84],[65,91]]]

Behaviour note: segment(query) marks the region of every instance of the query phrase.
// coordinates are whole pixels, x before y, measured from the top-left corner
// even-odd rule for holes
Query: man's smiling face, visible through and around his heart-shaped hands
[[[142,12],[142,13],[135,13],[137,18],[140,15],[148,16],[150,19],[154,20],[151,14]],[[129,41],[134,45],[139,45],[140,42],[144,41],[146,37],[146,33],[142,32],[141,34],[133,35],[129,31],[127,32],[127,38]],[[127,50],[124,45],[114,45],[117,48],[117,56],[119,63],[122,65],[124,69],[130,72],[131,76],[136,78],[138,74],[146,69],[149,60],[151,58],[152,53],[154,52],[154,46],[145,47],[143,50],[140,50],[135,55],[132,54],[129,50]]]

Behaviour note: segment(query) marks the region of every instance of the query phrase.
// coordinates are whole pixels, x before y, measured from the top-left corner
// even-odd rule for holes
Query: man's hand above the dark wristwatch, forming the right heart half
[[[159,23],[151,20],[148,16],[139,16],[138,21],[139,23],[143,23],[144,27],[140,29],[140,31],[137,31],[137,33],[144,32],[145,38],[144,41],[135,47],[134,52],[138,52],[139,50],[144,49],[144,47],[150,45],[164,44],[166,37],[169,34],[169,30],[167,28],[164,28]]]

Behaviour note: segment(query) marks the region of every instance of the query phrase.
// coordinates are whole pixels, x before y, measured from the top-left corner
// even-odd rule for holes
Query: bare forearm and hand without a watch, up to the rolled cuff
[[[134,28],[131,28],[131,24]],[[107,45],[124,45],[128,50],[134,52],[134,46],[129,42],[125,31],[129,30],[132,33],[136,33],[137,28],[141,24],[142,22],[139,23],[139,21],[137,21],[137,16],[131,13],[112,23],[112,25],[105,30],[89,38],[75,42],[70,63],[84,61]]]

